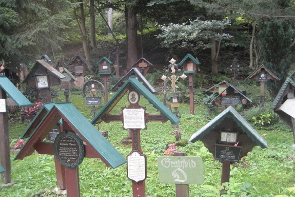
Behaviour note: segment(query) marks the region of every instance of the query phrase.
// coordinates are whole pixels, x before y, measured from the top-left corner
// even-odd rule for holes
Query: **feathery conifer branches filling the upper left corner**
[[[67,0],[0,1],[0,59],[17,67],[58,48],[71,6]]]

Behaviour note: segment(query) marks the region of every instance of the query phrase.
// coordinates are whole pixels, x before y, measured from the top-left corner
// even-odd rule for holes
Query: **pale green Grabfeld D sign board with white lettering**
[[[202,184],[204,182],[201,157],[159,157],[160,183]]]

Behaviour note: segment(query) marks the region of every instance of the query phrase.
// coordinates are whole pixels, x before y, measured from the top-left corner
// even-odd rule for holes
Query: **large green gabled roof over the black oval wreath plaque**
[[[55,109],[60,112],[63,121],[71,125],[72,128],[75,128],[78,134],[83,136],[86,140],[86,144],[91,146],[111,167],[116,168],[126,162],[126,159],[117,151],[117,149],[115,149],[115,147],[101,135],[101,133],[77,110],[77,108],[73,106],[71,102],[53,103],[52,108],[46,113],[46,115],[41,115],[42,121],[27,140],[28,144],[31,144],[30,139],[34,137],[40,125],[46,121],[51,111]],[[21,154],[23,149],[28,150],[26,144],[22,147],[14,160],[20,159],[19,154]]]

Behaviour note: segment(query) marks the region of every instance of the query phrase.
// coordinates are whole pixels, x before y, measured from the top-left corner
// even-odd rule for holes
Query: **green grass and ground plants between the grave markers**
[[[110,95],[112,97],[112,95]],[[110,98],[109,97],[109,98]],[[162,98],[160,98],[161,100]],[[60,92],[55,101],[63,102],[63,92]],[[70,95],[70,100],[78,110],[91,120],[92,106],[85,106],[81,95]],[[157,113],[147,100],[141,98],[141,106],[145,106],[148,113]],[[121,113],[121,108],[128,106],[125,97],[112,110],[112,114]],[[96,107],[96,112],[102,106]],[[195,105],[195,115],[189,114],[189,105],[181,104],[181,131],[185,131],[182,139],[190,136],[209,122],[212,116],[208,115],[206,108],[201,104]],[[16,141],[27,128],[29,122],[14,120],[9,123],[10,141]],[[120,141],[128,136],[128,131],[122,129],[122,123],[111,122],[99,124],[100,130],[109,131],[109,142],[126,157],[132,150],[131,145],[123,145]],[[158,157],[164,156],[167,142],[174,139],[170,131],[171,123],[150,122],[147,129],[140,131],[141,148],[147,156],[146,195],[156,197],[175,196],[175,185],[159,183]],[[264,130],[256,128],[260,135],[268,142],[268,149],[256,146],[252,152],[243,158],[243,161],[231,165],[231,180],[243,185],[249,183],[247,196],[270,197],[280,194],[283,188],[293,187],[295,183],[295,148],[292,148],[293,136],[291,129],[281,121],[272,128]],[[204,165],[204,183],[201,185],[189,185],[190,196],[219,196],[218,185],[221,179],[222,164],[214,160],[211,153],[200,141],[189,143],[185,147],[178,147],[188,156],[200,156]],[[14,159],[15,153],[11,154]],[[247,166],[247,167],[244,167]],[[108,168],[99,159],[84,158],[79,165],[80,189],[83,197],[123,197],[132,196],[132,183],[127,178],[126,164],[116,169]],[[39,197],[58,196],[51,190],[56,185],[55,165],[52,155],[33,154],[22,161],[12,161],[12,181],[17,184],[8,188],[0,187],[0,196],[7,197]],[[241,196],[234,193],[233,197]]]

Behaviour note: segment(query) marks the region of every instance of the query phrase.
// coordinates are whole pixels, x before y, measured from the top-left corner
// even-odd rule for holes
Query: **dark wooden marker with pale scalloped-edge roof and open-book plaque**
[[[230,181],[231,163],[240,161],[254,146],[267,148],[267,142],[232,106],[194,133],[189,141],[197,140],[222,162],[221,184]]]

